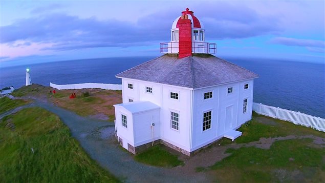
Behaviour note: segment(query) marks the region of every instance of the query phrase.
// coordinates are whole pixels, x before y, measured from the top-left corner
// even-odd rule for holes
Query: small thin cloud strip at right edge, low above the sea
[[[271,43],[287,45],[287,46],[318,47],[318,48],[325,47],[325,42],[322,40],[297,39],[297,38],[289,38],[289,37],[275,37],[271,40]]]

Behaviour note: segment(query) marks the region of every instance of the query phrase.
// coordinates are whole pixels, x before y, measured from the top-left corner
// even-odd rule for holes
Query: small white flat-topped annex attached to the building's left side
[[[135,147],[160,139],[160,107],[150,101],[114,105],[120,145],[135,154]]]

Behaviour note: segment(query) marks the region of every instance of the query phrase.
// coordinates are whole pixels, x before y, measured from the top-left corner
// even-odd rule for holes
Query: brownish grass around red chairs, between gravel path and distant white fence
[[[78,90],[56,90],[53,97],[50,97],[50,90],[54,88],[45,87],[38,84],[24,86],[14,90],[13,96],[46,99],[64,109],[71,110],[81,116],[102,114],[107,116],[107,120],[114,121],[114,104],[122,103],[122,91],[102,90],[102,89],[78,89]],[[88,92],[89,96],[82,93]],[[69,98],[72,93],[76,93],[76,98]]]

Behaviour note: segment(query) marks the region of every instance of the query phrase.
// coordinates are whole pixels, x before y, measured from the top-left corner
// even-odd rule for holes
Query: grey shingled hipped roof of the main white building
[[[201,88],[252,79],[258,75],[210,54],[192,55],[181,59],[172,54],[164,54],[121,72],[116,77]]]

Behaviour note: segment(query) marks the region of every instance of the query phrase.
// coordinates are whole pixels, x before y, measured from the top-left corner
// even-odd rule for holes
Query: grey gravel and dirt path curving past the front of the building
[[[125,182],[211,182],[213,177],[210,177],[207,172],[196,172],[196,168],[211,166],[216,161],[229,156],[230,154],[224,153],[228,148],[238,149],[255,146],[257,148],[269,149],[276,140],[296,138],[312,138],[315,144],[325,146],[324,138],[313,135],[261,138],[259,141],[248,144],[214,146],[191,158],[182,156],[185,162],[183,167],[172,169],[157,168],[140,164],[134,160],[133,155],[119,147],[114,137],[113,123],[81,117],[71,111],[44,101],[35,101],[32,104],[18,107],[0,115],[0,118],[20,109],[34,106],[42,107],[58,115],[63,123],[70,128],[72,136],[80,142],[82,148],[102,167]]]

